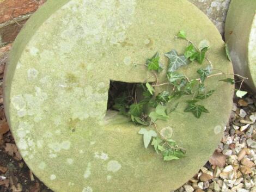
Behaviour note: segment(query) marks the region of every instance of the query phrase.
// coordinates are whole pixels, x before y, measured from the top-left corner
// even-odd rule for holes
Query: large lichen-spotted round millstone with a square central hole
[[[163,162],[144,148],[144,126],[106,113],[109,81],[146,82],[146,67],[133,62],[159,51],[167,65],[164,53],[185,51],[186,42],[174,39],[181,29],[195,44],[209,40],[215,69],[232,73],[218,30],[184,0],[48,1],[32,16],[11,52],[4,104],[22,157],[41,181],[56,192],[169,192],[204,165],[231,111],[233,87],[218,82],[224,77],[206,80],[216,90],[200,102],[209,114],[184,113],[182,100],[191,99],[184,96],[169,121],[157,121],[186,148],[180,160]],[[181,70],[198,78],[200,67]]]

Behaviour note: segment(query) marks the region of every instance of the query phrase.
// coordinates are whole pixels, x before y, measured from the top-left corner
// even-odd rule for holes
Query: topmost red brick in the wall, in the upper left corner
[[[0,0],[0,23],[13,20],[15,17],[33,13],[46,0]]]

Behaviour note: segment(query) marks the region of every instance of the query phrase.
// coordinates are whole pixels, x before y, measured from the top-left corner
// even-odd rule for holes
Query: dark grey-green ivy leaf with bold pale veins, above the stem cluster
[[[174,72],[178,70],[181,66],[187,65],[187,59],[184,55],[179,56],[177,52],[173,49],[172,51],[165,54],[169,58],[168,72]]]

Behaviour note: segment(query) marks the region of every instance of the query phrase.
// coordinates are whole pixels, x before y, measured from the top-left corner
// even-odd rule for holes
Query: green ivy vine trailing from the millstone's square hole
[[[205,81],[208,78],[219,75],[233,75],[240,77],[240,88],[236,90],[236,95],[242,97],[247,94],[246,91],[241,91],[242,83],[245,77],[236,74],[226,74],[224,72],[213,73],[213,65],[211,61],[206,57],[206,53],[210,49],[209,41],[202,40],[198,46],[192,41],[187,39],[186,33],[181,30],[175,37],[186,41],[185,53],[179,55],[175,49],[172,49],[168,53],[164,54],[168,58],[168,67],[166,70],[166,82],[159,83],[159,74],[163,72],[163,66],[160,63],[160,54],[157,52],[152,58],[146,60],[144,66],[147,67],[148,73],[152,73],[155,77],[155,82],[139,84],[135,88],[135,96],[127,96],[123,94],[116,98],[113,108],[118,110],[120,114],[129,116],[131,121],[147,127],[153,127],[148,130],[142,128],[138,134],[143,135],[144,147],[148,148],[151,145],[155,148],[157,154],[163,156],[163,160],[178,160],[185,157],[186,150],[179,147],[176,141],[172,139],[173,129],[171,127],[164,127],[160,131],[156,125],[158,120],[168,120],[169,114],[172,113],[179,105],[178,99],[183,95],[191,95],[191,100],[186,101],[187,107],[184,112],[192,113],[196,118],[200,118],[203,113],[209,113],[200,101],[209,98],[214,94],[215,90],[208,90],[205,87]],[[224,46],[227,59],[231,60],[228,51],[228,46]],[[198,78],[189,79],[185,74],[177,72],[182,66],[189,65],[191,63],[197,63],[203,65],[204,60],[208,61],[208,65],[200,67],[197,70]],[[141,65],[135,63],[135,66]],[[235,84],[235,79],[226,78],[220,80],[222,82]],[[155,88],[157,86],[168,85],[172,91],[164,90],[159,94],[156,94]],[[140,100],[137,100],[137,90],[142,92]],[[133,94],[131,94],[133,95]],[[173,107],[167,108],[168,103],[173,103]],[[149,110],[150,109],[150,110]],[[147,113],[150,111],[150,113]]]

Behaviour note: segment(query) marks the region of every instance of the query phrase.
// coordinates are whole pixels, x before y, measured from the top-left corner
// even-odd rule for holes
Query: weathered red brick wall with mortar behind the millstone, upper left
[[[11,45],[28,18],[47,0],[0,0],[0,78]]]

